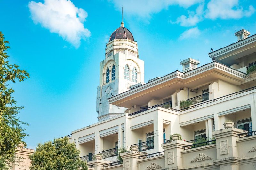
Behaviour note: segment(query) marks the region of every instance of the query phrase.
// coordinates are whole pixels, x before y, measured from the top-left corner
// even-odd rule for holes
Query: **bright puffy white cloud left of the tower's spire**
[[[70,0],[30,1],[28,7],[35,24],[39,23],[51,33],[57,33],[76,48],[80,46],[81,39],[91,36],[83,24],[87,12],[77,8]]]

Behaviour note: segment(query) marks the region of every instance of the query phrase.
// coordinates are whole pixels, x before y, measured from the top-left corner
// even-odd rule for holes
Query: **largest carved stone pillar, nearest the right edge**
[[[217,160],[213,162],[220,165],[220,170],[238,170],[238,149],[236,139],[238,134],[244,133],[244,130],[237,128],[221,129],[212,132],[216,139]]]

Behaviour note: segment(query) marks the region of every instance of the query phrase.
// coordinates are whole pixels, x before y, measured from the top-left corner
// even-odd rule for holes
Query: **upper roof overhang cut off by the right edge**
[[[215,57],[217,62],[225,63],[230,66],[238,58],[250,55],[256,51],[256,35],[248,37],[244,40],[233,43],[227,47],[220,48],[212,53],[209,57]]]

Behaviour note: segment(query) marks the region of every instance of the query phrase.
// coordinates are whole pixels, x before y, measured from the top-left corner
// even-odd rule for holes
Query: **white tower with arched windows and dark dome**
[[[97,87],[98,120],[123,114],[126,109],[108,103],[108,98],[144,83],[144,61],[139,59],[138,45],[132,33],[121,26],[110,36],[105,60],[100,62],[100,85]]]

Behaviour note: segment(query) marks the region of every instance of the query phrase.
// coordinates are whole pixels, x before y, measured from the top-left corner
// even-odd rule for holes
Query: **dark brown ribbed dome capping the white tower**
[[[114,39],[129,39],[134,41],[134,38],[132,36],[132,33],[124,27],[124,23],[121,22],[121,26],[117,28],[110,36],[109,41],[112,41]],[[109,42],[108,41],[108,42]]]

